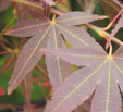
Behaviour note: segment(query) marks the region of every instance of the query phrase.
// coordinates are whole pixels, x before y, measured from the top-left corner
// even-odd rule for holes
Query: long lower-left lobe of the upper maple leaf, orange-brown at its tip
[[[24,46],[10,79],[8,94],[11,94],[13,89],[17,87],[22,79],[33,70],[35,64],[42,57],[44,53],[39,52],[38,49],[46,47],[47,38],[45,37],[47,36],[49,28],[50,26],[47,25],[38,35],[30,38]]]

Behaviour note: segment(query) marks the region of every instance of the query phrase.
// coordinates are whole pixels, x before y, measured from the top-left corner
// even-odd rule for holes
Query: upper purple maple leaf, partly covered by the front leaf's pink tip
[[[39,52],[38,49],[45,48],[47,45],[47,40],[48,40],[48,46],[50,46],[51,48],[58,49],[59,48],[58,45],[63,41],[61,36],[58,37],[58,35],[62,34],[62,36],[72,46],[88,47],[89,45],[93,45],[96,47],[97,43],[93,38],[90,38],[89,34],[85,29],[82,29],[72,25],[85,24],[98,18],[99,18],[98,15],[93,15],[85,12],[71,12],[71,13],[63,14],[58,18],[53,17],[52,21],[45,17],[42,20],[24,21],[19,23],[15,27],[8,30],[7,35],[13,35],[19,37],[28,37],[28,36],[35,35],[24,46],[19,57],[14,73],[10,80],[8,94],[11,94],[13,89],[16,88],[16,86],[21,83],[24,76],[28,74],[28,72],[33,70],[35,64],[39,61],[39,59],[44,53]],[[53,40],[50,38],[52,38]],[[58,79],[59,82],[59,80],[62,80],[60,71],[63,69],[61,69],[61,62],[58,57],[56,59],[53,58],[53,60],[56,60],[56,62],[51,63],[48,61],[48,57],[47,57],[47,65],[49,67],[58,66],[59,71],[56,71],[56,73],[52,73],[50,71],[51,69],[48,67],[49,70],[48,72],[50,77],[53,77],[52,75],[54,75],[57,77],[53,77],[53,78]],[[50,78],[50,80],[52,82],[52,78]],[[58,84],[61,84],[61,83],[57,83],[57,85],[52,85],[54,86],[53,89],[60,86]]]

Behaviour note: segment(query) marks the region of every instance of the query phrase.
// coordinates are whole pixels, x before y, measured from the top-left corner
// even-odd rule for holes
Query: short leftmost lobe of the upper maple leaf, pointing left
[[[42,20],[26,20],[20,22],[16,26],[5,33],[5,35],[13,35],[19,37],[34,36],[48,24],[46,18]]]

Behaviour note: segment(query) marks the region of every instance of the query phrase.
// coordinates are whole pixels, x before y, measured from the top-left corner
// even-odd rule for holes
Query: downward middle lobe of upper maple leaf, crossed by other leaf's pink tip
[[[57,32],[56,27],[52,26],[50,29],[49,40],[47,48],[59,49],[65,48],[62,37]],[[59,57],[46,53],[47,70],[49,72],[49,79],[52,84],[53,90],[61,86],[64,79],[70,74],[70,64],[61,60]]]

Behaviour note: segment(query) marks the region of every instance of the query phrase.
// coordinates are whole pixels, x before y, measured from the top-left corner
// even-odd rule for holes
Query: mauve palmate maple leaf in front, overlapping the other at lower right
[[[75,65],[82,66],[88,62],[85,69],[70,75],[54,91],[45,112],[71,112],[94,91],[91,112],[122,112],[120,89],[123,92],[123,47],[113,55],[93,48],[41,51],[53,52]]]

